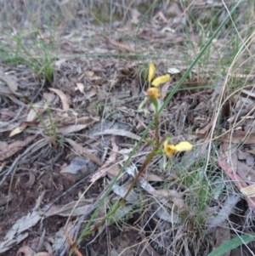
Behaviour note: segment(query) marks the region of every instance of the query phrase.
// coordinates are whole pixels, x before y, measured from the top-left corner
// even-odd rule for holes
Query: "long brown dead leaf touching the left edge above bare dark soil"
[[[28,145],[36,136],[29,136],[25,140],[16,140],[14,143],[8,145],[4,151],[0,151],[0,161],[7,159],[10,156],[14,156],[18,151]]]

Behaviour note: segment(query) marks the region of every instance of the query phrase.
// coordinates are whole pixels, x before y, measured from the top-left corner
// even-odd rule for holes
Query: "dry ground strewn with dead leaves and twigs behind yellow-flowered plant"
[[[144,109],[139,110],[148,88],[148,64],[155,62],[157,75],[171,73],[170,82],[161,88],[162,104],[201,45],[207,43],[210,33],[203,28],[210,14],[220,11],[215,27],[227,14],[217,1],[184,1],[186,8],[179,1],[159,1],[146,16],[150,4],[143,1],[133,5],[117,1],[112,6],[102,1],[44,2],[0,1],[4,31],[0,35],[3,256],[68,255],[72,242],[154,117],[150,104],[146,115]],[[245,24],[241,9],[247,8],[249,5],[238,9],[238,22]],[[200,20],[196,23],[194,17]],[[143,178],[150,190],[138,185],[133,193],[139,195],[139,203],[127,200],[116,224],[104,225],[84,237],[76,255],[207,255],[236,234],[254,232],[254,202],[240,192],[255,181],[253,135],[243,143],[246,134],[253,134],[254,93],[252,88],[242,92],[222,89],[233,59],[234,46],[228,44],[233,33],[228,30],[230,25],[220,31],[207,58],[195,65],[159,120],[161,138],[171,134],[175,143],[190,140],[199,152],[176,156],[172,171],[169,168],[166,172],[162,171],[162,157],[156,156]],[[225,62],[220,65],[219,60]],[[228,74],[229,81],[251,85],[254,63],[246,63],[249,77],[241,77],[241,68],[246,65],[239,60],[231,70],[239,72],[238,76]],[[47,65],[52,74],[48,75]],[[221,103],[220,130],[211,133]],[[242,119],[247,113],[251,118]],[[229,139],[226,131],[234,119],[241,122]],[[208,138],[224,133],[214,147],[209,146]],[[148,136],[155,137],[153,126]],[[234,178],[222,157],[230,143],[233,147],[241,144],[238,151],[231,151],[235,170],[239,170]],[[143,142],[128,167],[139,168],[150,151],[151,145]],[[201,158],[209,163],[201,164]],[[203,171],[215,174],[216,184],[224,184],[218,186],[218,197],[210,198],[197,212],[200,197],[195,198],[195,190],[188,190],[188,179],[176,166],[185,166],[190,175],[206,166]],[[118,196],[123,196],[119,187],[127,187],[130,180],[132,174],[122,175],[105,198],[94,225]],[[166,191],[174,191],[171,196],[175,199],[170,196],[169,202],[162,201],[158,195]],[[182,212],[183,202],[194,208]],[[165,213],[159,213],[159,208]],[[227,221],[214,219],[211,229],[207,229],[212,223],[206,219],[199,223],[201,229],[196,225],[197,214],[221,213],[226,208]],[[177,213],[183,213],[183,219]],[[251,242],[230,255],[254,255],[254,248]]]

